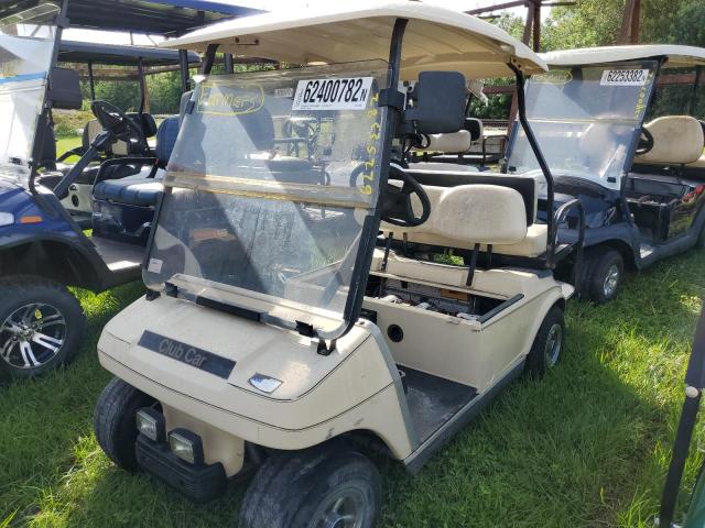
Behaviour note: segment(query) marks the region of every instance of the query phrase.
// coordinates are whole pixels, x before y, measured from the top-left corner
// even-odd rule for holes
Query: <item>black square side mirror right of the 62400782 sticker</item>
[[[421,72],[409,95],[404,127],[416,134],[444,134],[465,128],[465,76],[458,72]]]

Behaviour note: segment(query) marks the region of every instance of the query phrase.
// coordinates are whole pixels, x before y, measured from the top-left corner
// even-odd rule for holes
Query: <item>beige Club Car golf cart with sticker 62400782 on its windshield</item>
[[[303,66],[199,79],[149,293],[98,344],[116,375],[98,442],[196,501],[256,472],[242,528],[371,527],[380,477],[362,453],[416,471],[561,354],[573,287],[477,258],[552,246],[535,221],[547,168],[415,168],[401,148],[463,135],[467,79],[543,64],[490,24],[416,2],[258,15],[171,45],[206,65],[223,51]]]

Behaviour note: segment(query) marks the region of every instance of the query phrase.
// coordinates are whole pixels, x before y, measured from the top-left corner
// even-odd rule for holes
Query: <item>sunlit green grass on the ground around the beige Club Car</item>
[[[242,485],[196,506],[117,470],[96,444],[93,406],[109,380],[96,341],[141,292],[82,293],[77,360],[0,389],[0,528],[235,526]],[[415,476],[381,461],[381,526],[651,527],[704,294],[705,258],[688,253],[631,277],[609,306],[571,301],[570,344],[543,382],[512,385]],[[701,425],[681,510],[704,441]]]

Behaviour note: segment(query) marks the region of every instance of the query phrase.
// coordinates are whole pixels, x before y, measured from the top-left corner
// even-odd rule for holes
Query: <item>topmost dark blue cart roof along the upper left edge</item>
[[[3,15],[62,0],[0,0]],[[72,28],[131,31],[176,36],[223,19],[247,16],[259,10],[214,0],[68,0]]]

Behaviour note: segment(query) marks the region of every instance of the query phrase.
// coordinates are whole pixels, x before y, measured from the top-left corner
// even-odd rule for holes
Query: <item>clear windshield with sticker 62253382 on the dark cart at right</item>
[[[618,189],[651,94],[654,62],[552,69],[527,85],[527,116],[554,176]],[[538,169],[514,128],[509,170]]]

